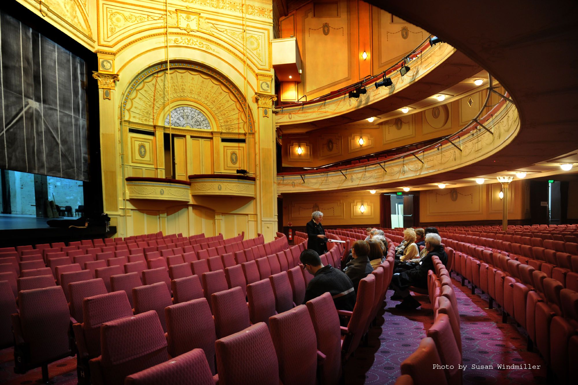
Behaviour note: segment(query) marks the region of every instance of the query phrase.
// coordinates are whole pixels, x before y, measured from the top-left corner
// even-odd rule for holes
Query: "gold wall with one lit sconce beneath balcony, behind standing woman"
[[[283,225],[305,226],[311,213],[323,213],[324,225],[378,224],[380,215],[379,194],[368,191],[327,194],[283,195]],[[364,206],[362,213],[360,208]]]

